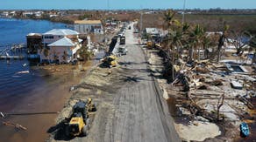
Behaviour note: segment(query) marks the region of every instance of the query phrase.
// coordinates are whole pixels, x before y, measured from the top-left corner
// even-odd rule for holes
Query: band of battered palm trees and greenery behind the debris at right
[[[203,24],[181,24],[179,19],[175,17],[174,10],[167,10],[163,15],[165,23],[162,27],[168,30],[168,35],[163,39],[163,49],[167,51],[170,56],[170,64],[172,68],[172,80],[174,80],[174,66],[181,65],[181,62],[193,62],[200,61],[201,52],[207,52],[204,59],[216,59],[217,62],[222,56],[222,47],[224,43],[234,44],[238,56],[242,56],[245,51],[245,45],[249,44],[250,51],[255,51],[256,47],[256,37],[253,36],[248,30],[233,30],[230,25],[225,21],[222,21],[222,27],[216,31],[221,31],[218,33],[207,33],[206,28]],[[241,28],[240,28],[241,29]],[[244,40],[246,39],[246,41]],[[181,57],[183,51],[188,51],[189,59],[184,60]],[[255,55],[255,54],[254,54]],[[187,57],[187,58],[188,58]],[[183,60],[183,61],[181,61]]]

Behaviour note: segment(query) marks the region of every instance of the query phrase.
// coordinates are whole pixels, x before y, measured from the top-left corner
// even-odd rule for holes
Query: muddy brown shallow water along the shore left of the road
[[[73,69],[76,67],[77,69]],[[83,66],[83,70],[89,71],[90,63]],[[83,78],[85,72],[78,69],[77,65],[46,65],[36,67],[41,76],[46,76],[46,85],[35,88],[31,94],[20,100],[11,112],[60,112],[66,100],[71,97],[68,91],[70,86],[80,82],[77,78]],[[58,68],[59,71],[54,71]],[[66,69],[65,73],[61,69]],[[64,77],[64,78],[63,78]],[[44,87],[44,88],[42,88]],[[27,131],[14,131],[14,128],[0,125],[0,132],[5,134],[3,141],[32,142],[43,141],[48,138],[48,129],[54,125],[54,119],[58,114],[29,115],[29,116],[7,116],[2,120],[11,121],[27,128]],[[31,123],[32,122],[32,123]],[[34,127],[34,125],[41,125]],[[1,140],[0,140],[1,141]]]

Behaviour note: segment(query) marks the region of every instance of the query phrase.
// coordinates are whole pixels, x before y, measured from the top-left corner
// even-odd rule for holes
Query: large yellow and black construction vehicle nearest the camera
[[[79,101],[73,106],[72,115],[66,123],[66,135],[68,137],[87,136],[89,132],[89,112],[96,112],[96,105],[92,99]]]

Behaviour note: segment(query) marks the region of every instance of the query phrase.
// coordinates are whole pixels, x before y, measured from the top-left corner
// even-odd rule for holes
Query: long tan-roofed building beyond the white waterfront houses
[[[75,30],[82,34],[103,34],[103,24],[100,20],[78,20],[75,21]]]

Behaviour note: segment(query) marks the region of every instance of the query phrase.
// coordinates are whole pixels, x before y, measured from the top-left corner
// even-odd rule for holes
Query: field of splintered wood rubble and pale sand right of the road
[[[146,53],[151,64],[160,64],[161,60],[165,60],[158,57],[156,50],[147,50]],[[231,71],[232,65],[226,63],[193,61],[187,65],[174,65],[176,75],[170,85],[158,79],[168,93],[164,94],[164,98],[177,99],[174,110],[178,111],[172,116],[178,116],[175,127],[181,139],[203,141],[220,135],[221,130],[227,136],[220,139],[234,139],[238,136],[238,125],[242,121],[252,121],[244,119],[244,114],[254,108],[250,99],[256,97],[256,76],[251,66],[237,66],[244,72]],[[150,67],[154,71],[163,70],[156,65]],[[220,129],[216,125],[223,121],[229,122],[232,130],[231,127]],[[234,127],[237,129],[234,130]]]

